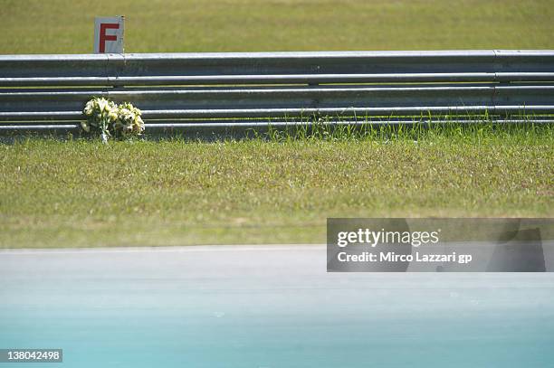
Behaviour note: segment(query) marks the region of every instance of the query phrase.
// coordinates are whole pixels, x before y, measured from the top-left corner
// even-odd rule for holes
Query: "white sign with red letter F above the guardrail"
[[[94,53],[123,53],[125,16],[94,19]]]

